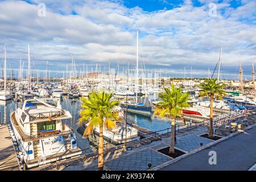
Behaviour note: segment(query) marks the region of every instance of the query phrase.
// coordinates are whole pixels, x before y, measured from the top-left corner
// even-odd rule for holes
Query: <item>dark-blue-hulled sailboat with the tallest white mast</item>
[[[136,68],[136,101],[122,101],[121,107],[127,108],[128,111],[132,113],[150,114],[151,106],[144,105],[143,103],[138,103],[138,62],[139,62],[139,32],[137,31],[137,68]]]

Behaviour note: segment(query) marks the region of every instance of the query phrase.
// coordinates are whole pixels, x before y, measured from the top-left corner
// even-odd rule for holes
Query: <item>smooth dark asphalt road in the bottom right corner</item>
[[[256,127],[181,159],[161,170],[242,170],[256,163]],[[216,151],[217,164],[210,165],[209,151]],[[252,168],[253,169],[253,168]]]

